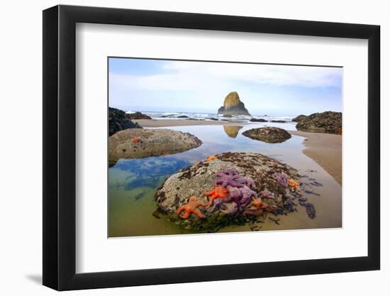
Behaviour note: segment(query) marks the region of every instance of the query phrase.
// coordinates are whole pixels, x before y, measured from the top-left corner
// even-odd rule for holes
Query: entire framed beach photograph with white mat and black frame
[[[379,26],[43,11],[43,285],[380,267]]]

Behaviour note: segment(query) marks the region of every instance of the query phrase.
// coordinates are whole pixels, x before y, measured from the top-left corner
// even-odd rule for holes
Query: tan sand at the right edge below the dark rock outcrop
[[[308,155],[326,170],[329,175],[342,185],[342,137],[329,133],[308,133],[305,131],[289,131],[292,135],[303,136],[305,149]]]

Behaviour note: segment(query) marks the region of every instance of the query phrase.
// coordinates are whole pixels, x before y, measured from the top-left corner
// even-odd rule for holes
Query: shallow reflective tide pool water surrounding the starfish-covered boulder
[[[310,219],[306,209],[278,216],[278,224],[267,219],[259,230],[317,229],[342,226],[341,186],[315,161],[303,154],[303,137],[291,136],[284,143],[264,143],[243,136],[243,131],[271,123],[245,126],[176,126],[170,129],[192,133],[203,144],[174,155],[118,160],[108,171],[108,236],[152,236],[197,234],[182,229],[157,210],[154,196],[157,188],[170,175],[208,155],[223,152],[262,153],[296,168],[306,183],[302,192],[316,207],[316,218]],[[274,123],[272,123],[274,125]],[[277,124],[291,130],[294,124]],[[260,228],[261,227],[261,228]],[[226,226],[218,232],[251,231],[249,224]]]

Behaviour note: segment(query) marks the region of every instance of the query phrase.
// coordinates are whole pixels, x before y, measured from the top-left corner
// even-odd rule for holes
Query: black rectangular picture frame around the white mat
[[[79,273],[76,266],[76,23],[368,40],[368,256]],[[43,285],[79,290],[380,268],[380,27],[351,23],[55,6],[43,11]]]

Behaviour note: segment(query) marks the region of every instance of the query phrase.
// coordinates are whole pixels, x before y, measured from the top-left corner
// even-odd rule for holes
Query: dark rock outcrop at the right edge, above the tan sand
[[[341,112],[325,111],[314,113],[302,119],[296,124],[298,131],[310,131],[313,133],[342,133]]]

